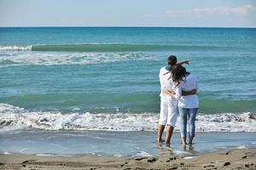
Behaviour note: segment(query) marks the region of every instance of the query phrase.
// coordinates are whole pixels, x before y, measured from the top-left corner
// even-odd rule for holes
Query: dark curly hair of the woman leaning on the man
[[[172,81],[176,83],[176,86],[180,82],[186,79],[186,74],[189,73],[186,71],[186,68],[182,65],[175,65],[172,69]]]

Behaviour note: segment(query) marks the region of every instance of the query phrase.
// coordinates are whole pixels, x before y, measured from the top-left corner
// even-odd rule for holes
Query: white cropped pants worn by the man
[[[177,122],[177,101],[161,99],[160,125],[171,125],[175,127]]]

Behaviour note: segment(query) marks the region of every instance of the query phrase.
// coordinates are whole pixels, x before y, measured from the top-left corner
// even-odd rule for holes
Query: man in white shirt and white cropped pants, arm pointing
[[[171,71],[172,68],[175,65],[183,65],[187,64],[189,65],[189,60],[183,60],[180,63],[177,63],[177,57],[174,55],[171,55],[167,59],[167,66],[162,67],[160,69],[160,120],[158,125],[158,139],[157,141],[164,142],[162,139],[162,133],[165,130],[166,127],[166,146],[170,147],[170,140],[172,138],[172,132],[175,127],[175,124],[177,122],[177,105],[173,105],[170,103],[170,96],[163,93],[164,88],[167,88],[170,92],[173,92],[172,89],[172,78],[171,77]],[[191,90],[190,92],[182,92],[182,95],[191,95],[195,94],[195,90]]]

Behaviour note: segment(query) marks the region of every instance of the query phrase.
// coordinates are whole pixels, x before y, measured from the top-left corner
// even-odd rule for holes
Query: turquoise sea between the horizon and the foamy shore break
[[[157,115],[170,54],[198,76],[201,115],[256,111],[253,28],[0,28],[0,46],[2,113]]]

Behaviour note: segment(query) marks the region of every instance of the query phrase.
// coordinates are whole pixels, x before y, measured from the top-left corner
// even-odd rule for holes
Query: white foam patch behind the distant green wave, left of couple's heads
[[[90,65],[147,59],[153,59],[153,55],[143,53],[2,52],[0,54],[0,66]]]

